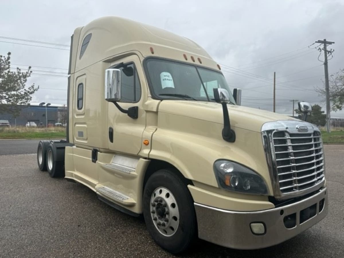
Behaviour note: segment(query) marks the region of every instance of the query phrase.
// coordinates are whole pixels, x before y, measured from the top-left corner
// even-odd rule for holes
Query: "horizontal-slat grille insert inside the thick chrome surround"
[[[324,178],[324,153],[320,132],[272,131],[272,155],[282,194],[302,191]]]

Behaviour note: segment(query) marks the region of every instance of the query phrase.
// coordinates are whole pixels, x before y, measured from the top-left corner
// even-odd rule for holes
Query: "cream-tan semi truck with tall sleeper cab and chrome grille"
[[[127,19],[94,20],[71,39],[67,139],[39,143],[39,168],[143,214],[172,253],[196,237],[276,245],[327,214],[321,134],[240,106],[233,92],[195,42]]]

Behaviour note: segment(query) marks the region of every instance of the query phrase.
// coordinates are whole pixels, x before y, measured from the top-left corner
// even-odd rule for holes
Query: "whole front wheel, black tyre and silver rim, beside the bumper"
[[[191,194],[173,170],[159,170],[148,179],[143,192],[143,216],[153,240],[173,254],[184,251],[196,236]]]

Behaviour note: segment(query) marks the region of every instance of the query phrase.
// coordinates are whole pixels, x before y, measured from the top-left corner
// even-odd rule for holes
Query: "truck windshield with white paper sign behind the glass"
[[[152,95],[159,99],[215,101],[213,88],[224,88],[235,103],[224,76],[210,69],[150,58],[146,62]]]

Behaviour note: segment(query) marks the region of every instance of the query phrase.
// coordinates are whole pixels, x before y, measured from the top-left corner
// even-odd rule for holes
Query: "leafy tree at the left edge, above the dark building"
[[[39,89],[34,84],[25,88],[31,73],[31,66],[25,72],[18,67],[11,71],[11,52],[7,56],[0,55],[0,114],[9,112],[18,116],[21,106],[31,101],[31,95]]]

